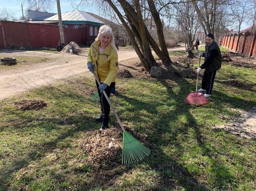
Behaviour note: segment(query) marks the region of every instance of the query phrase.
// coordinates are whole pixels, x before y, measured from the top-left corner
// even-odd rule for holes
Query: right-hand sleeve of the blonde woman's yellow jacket
[[[110,86],[111,82],[116,78],[116,72],[118,69],[118,55],[117,52],[112,49],[111,58],[109,60],[109,73],[107,75],[107,78],[105,79],[104,83]]]

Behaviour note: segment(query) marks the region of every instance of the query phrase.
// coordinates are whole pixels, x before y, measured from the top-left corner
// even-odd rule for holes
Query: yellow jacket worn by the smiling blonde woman
[[[108,86],[116,81],[116,72],[118,69],[118,55],[115,49],[108,44],[102,54],[99,53],[100,41],[95,41],[90,47],[88,53],[88,62],[94,65],[94,71],[99,77],[101,83]]]

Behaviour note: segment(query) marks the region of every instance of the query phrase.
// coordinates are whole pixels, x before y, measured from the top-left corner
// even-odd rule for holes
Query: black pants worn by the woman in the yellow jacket
[[[112,86],[113,86],[114,82],[112,82],[110,84],[110,86],[107,86],[105,89],[105,92],[109,98],[110,96],[110,92],[112,90]],[[102,119],[103,121],[108,122],[109,121],[109,113],[110,113],[110,106],[107,102],[107,99],[105,97],[105,95],[103,94],[103,92],[101,93],[101,91],[99,90],[99,85],[96,81],[96,86],[97,86],[97,90],[98,90],[98,94],[100,96],[100,101],[101,101],[101,114],[102,114]]]

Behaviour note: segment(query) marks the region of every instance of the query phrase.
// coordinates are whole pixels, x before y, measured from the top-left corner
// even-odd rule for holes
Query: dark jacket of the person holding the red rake
[[[208,49],[208,56],[205,58],[205,62],[200,66],[200,68],[205,69],[206,72],[217,71],[221,68],[222,57],[220,52],[220,47],[217,42],[213,41],[208,47],[205,46],[205,52]],[[204,54],[205,55],[205,54]]]

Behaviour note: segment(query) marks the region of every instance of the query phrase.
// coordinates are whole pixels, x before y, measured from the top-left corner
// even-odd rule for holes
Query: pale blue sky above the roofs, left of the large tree
[[[24,1],[24,0],[23,0]],[[0,0],[0,10],[6,8],[8,12],[13,13],[13,15],[18,19],[22,16],[22,9],[21,9],[21,0]],[[60,0],[60,9],[61,12],[68,12],[73,11],[74,8],[68,3],[68,0]],[[26,5],[23,4],[23,14],[25,15]],[[88,11],[91,13],[96,13],[95,10],[81,10],[81,11]],[[57,11],[57,3],[49,13],[58,13]]]

